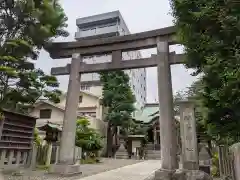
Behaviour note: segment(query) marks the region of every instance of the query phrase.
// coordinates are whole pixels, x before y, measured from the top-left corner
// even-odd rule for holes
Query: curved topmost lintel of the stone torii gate
[[[101,55],[110,54],[116,50],[124,52],[154,48],[157,40],[167,41],[169,45],[177,44],[175,35],[176,27],[169,26],[125,36],[47,43],[44,48],[53,59],[70,58],[74,53],[80,53],[83,56]]]

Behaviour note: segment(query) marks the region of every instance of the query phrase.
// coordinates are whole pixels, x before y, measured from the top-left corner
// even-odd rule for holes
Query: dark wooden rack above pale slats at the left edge
[[[36,117],[1,110],[0,168],[15,169],[28,164]]]

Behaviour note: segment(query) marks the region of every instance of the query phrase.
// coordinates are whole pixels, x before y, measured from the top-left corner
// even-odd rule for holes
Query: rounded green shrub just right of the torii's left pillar
[[[102,149],[102,138],[95,129],[89,128],[86,118],[77,120],[76,146],[82,147],[83,151],[96,152]]]

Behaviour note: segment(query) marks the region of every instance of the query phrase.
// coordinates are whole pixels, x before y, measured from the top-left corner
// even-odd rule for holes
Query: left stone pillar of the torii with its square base
[[[81,173],[80,165],[75,162],[74,158],[77,109],[81,80],[81,74],[79,73],[81,60],[79,54],[72,55],[63,119],[63,131],[60,141],[59,161],[57,164],[50,166],[50,173],[63,175]]]

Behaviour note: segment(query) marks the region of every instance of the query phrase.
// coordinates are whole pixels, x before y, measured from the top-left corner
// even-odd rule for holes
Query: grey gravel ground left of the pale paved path
[[[84,164],[82,166],[82,174],[71,177],[59,177],[47,174],[44,171],[24,171],[21,175],[5,174],[4,180],[77,180],[86,176],[95,175],[101,172],[117,169],[123,166],[142,162],[140,160],[128,159],[102,159],[99,164]],[[0,178],[2,180],[2,178]]]

